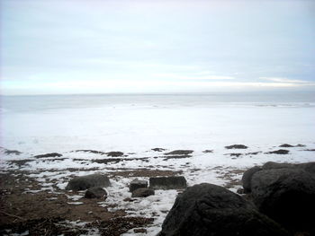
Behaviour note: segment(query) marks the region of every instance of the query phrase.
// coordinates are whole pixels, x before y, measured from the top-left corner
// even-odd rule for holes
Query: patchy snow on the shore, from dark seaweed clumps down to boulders
[[[34,153],[5,154],[2,149],[1,173],[22,171],[23,175],[36,179],[36,188],[23,189],[26,195],[39,195],[47,192],[50,201],[60,200],[60,196],[69,196],[70,207],[86,205],[82,202],[84,192],[71,193],[65,190],[67,181],[73,176],[82,176],[102,172],[110,176],[112,187],[107,188],[109,197],[106,200],[95,200],[95,204],[115,214],[125,212],[128,217],[154,218],[154,222],[145,226],[147,234],[135,234],[131,229],[126,235],[156,235],[167,212],[172,207],[176,190],[156,190],[154,196],[130,199],[128,190],[132,179],[147,179],[150,176],[182,175],[188,186],[208,182],[220,185],[236,192],[241,187],[242,173],[253,165],[265,162],[312,162],[315,144],[304,144],[282,148],[277,145],[248,146],[247,149],[226,149],[219,146],[212,152],[193,150],[192,156],[186,158],[166,159],[164,152],[147,150],[138,153],[124,153],[120,157],[108,157],[100,153],[65,152],[60,157],[33,156]],[[270,154],[278,149],[288,150],[288,154]],[[309,151],[307,151],[309,150]],[[113,151],[113,150],[112,150]],[[119,150],[115,150],[119,151]],[[258,153],[257,153],[258,152]],[[238,153],[239,155],[234,155]],[[42,154],[42,153],[36,153]],[[119,159],[120,161],[116,161]],[[106,160],[106,162],[95,162]],[[112,162],[107,162],[107,160]],[[19,162],[20,161],[20,162]],[[26,162],[24,162],[26,161]],[[16,184],[19,180],[16,179]],[[67,198],[66,198],[67,199]],[[83,206],[81,206],[83,207]],[[86,205],[88,207],[88,205]],[[74,208],[76,209],[76,208]],[[77,220],[77,218],[72,218]],[[82,222],[82,221],[81,221]],[[85,221],[83,221],[85,222]],[[99,235],[97,233],[92,235]]]

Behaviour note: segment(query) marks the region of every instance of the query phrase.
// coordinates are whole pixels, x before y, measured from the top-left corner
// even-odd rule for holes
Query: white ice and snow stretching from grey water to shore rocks
[[[246,170],[269,161],[315,161],[313,152],[305,151],[315,148],[313,103],[130,101],[67,109],[5,109],[1,116],[3,149],[0,150],[0,171],[31,171],[30,177],[36,178],[41,185],[37,190],[25,189],[31,193],[49,190],[62,194],[71,176],[95,172],[110,175],[120,169],[182,170],[189,186],[202,182],[224,186],[229,182],[224,176],[232,170]],[[266,153],[280,149],[279,145],[285,143],[306,146],[284,148],[290,150],[287,155]],[[225,146],[230,144],[245,144],[248,148],[226,149]],[[156,158],[166,152],[153,152],[151,149],[155,147],[166,148],[166,152],[189,149],[193,154],[190,158],[165,160]],[[4,149],[23,153],[5,154]],[[117,157],[123,159],[121,162],[103,164],[91,161],[111,157],[73,152],[83,149],[104,153],[121,151],[128,156]],[[204,150],[213,150],[213,153],[202,153]],[[260,153],[247,154],[255,152]],[[62,156],[33,157],[42,153],[61,153]],[[229,153],[242,155],[233,157]],[[17,160],[32,162],[21,167],[10,162]],[[241,173],[235,172],[230,178],[239,180]],[[128,185],[132,179],[135,177],[112,178],[112,186],[106,188],[108,197],[99,205],[113,212],[123,209],[129,215],[154,217],[155,221],[148,226],[146,235],[156,235],[178,191],[156,190],[154,196],[124,201],[131,197]],[[147,177],[139,179],[148,180]],[[230,189],[236,191],[238,187]],[[67,195],[71,200],[68,204],[83,204],[78,201],[82,195]],[[131,230],[125,235],[135,233]]]

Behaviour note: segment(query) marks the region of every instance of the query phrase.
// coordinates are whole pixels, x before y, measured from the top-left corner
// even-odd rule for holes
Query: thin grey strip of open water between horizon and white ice
[[[112,106],[211,107],[211,106],[313,107],[314,92],[220,92],[181,94],[85,94],[2,96],[1,112],[36,112],[45,109],[82,109]]]

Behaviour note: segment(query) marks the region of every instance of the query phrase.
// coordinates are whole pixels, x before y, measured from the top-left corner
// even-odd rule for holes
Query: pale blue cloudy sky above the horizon
[[[4,95],[315,92],[315,1],[0,1]]]

